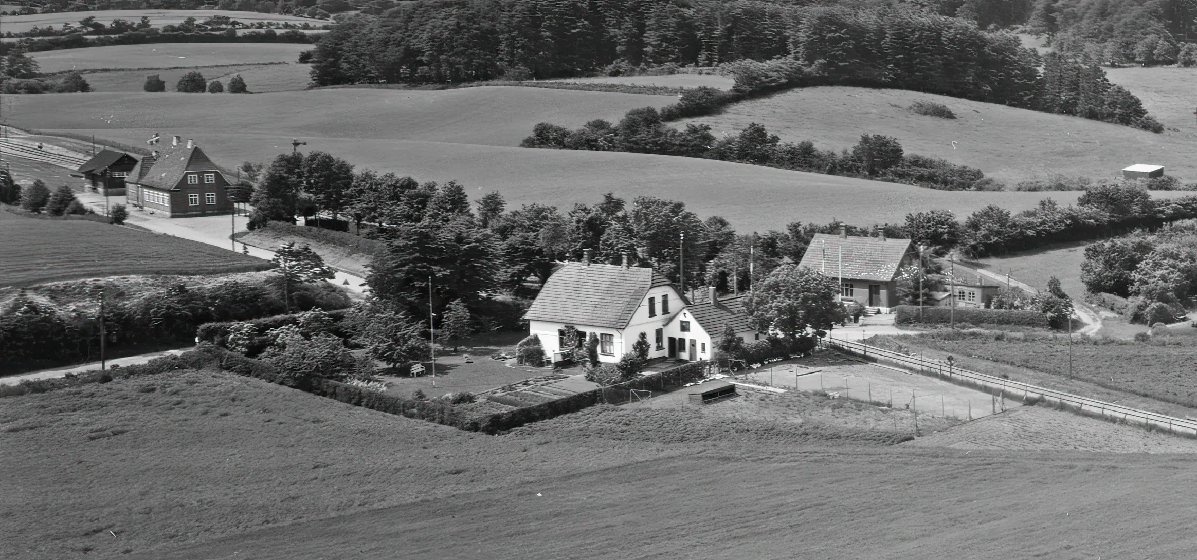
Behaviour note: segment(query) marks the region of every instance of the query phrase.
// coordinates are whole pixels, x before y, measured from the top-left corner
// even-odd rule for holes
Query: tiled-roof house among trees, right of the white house
[[[917,262],[910,239],[849,236],[840,225],[839,236],[815,233],[798,266],[839,279],[841,300],[888,314],[898,305],[898,273]]]

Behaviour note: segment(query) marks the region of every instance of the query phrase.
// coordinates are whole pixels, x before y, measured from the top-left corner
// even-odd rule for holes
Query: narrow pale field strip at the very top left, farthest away
[[[279,13],[238,12],[233,10],[99,10],[87,12],[85,14],[80,14],[78,12],[57,12],[32,13],[28,16],[5,16],[4,30],[17,34],[29,31],[35,25],[38,28],[44,28],[47,25],[61,28],[65,23],[77,25],[80,19],[89,16],[93,16],[96,20],[104,25],[108,25],[114,19],[126,19],[136,23],[140,22],[141,18],[148,17],[150,24],[154,28],[160,28],[163,25],[178,25],[187,18],[195,18],[198,22],[203,22],[213,16],[229,16],[232,19],[247,24],[253,24],[255,22],[277,22],[293,23],[296,25],[303,25],[306,23],[309,25],[320,26],[332,23],[320,19],[284,16]]]

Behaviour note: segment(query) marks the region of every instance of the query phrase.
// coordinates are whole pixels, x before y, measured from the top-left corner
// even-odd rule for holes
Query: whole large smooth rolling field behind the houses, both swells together
[[[591,118],[616,121],[628,109],[673,103],[670,96],[496,86],[251,96],[101,92],[74,95],[68,105],[61,99],[20,96],[12,121],[130,145],[154,133],[178,134],[194,138],[225,166],[269,162],[290,152],[291,140],[298,138],[308,142],[305,150],[323,150],[359,168],[421,181],[457,179],[475,196],[498,190],[512,205],[569,208],[607,191],[643,194],[685,201],[692,211],[723,215],[741,230],[832,219],[897,223],[909,212],[946,208],[968,214],[989,203],[1016,212],[1047,196],[942,191],[693,158],[516,147],[537,122],[579,127]],[[1050,195],[1068,203],[1077,193]]]

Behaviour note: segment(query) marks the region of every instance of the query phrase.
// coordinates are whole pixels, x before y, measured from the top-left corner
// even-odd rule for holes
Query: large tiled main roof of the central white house
[[[540,288],[524,318],[622,329],[649,288],[668,284],[651,268],[567,262]]]

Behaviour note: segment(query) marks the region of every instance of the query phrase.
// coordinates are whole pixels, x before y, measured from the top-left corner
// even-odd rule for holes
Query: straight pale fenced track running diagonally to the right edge
[[[852,342],[849,340],[827,337],[827,346],[856,354],[865,359],[876,361],[888,361],[899,367],[911,370],[924,376],[935,375],[941,379],[959,385],[973,385],[990,392],[1005,394],[1010,396],[1022,396],[1023,400],[1035,398],[1056,404],[1061,409],[1071,409],[1080,414],[1102,416],[1110,420],[1120,420],[1143,425],[1144,428],[1167,428],[1169,432],[1197,437],[1197,421],[1183,418],[1168,416],[1166,414],[1141,410],[1138,408],[1124,407],[1096,398],[1073,395],[1070,392],[1046,389],[1029,383],[1021,383],[1001,377],[988,376],[976,371],[961,370],[944,364],[942,360],[929,360],[919,355],[905,355],[897,352],[877,348],[875,346]]]

